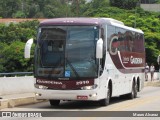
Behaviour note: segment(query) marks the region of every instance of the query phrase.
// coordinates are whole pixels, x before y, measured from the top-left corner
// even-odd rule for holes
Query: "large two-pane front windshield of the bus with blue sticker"
[[[97,77],[96,26],[39,28],[35,76],[49,78]]]

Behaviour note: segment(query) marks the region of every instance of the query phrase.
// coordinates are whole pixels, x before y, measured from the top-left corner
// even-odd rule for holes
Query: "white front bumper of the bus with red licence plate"
[[[94,90],[48,90],[36,88],[36,99],[48,100],[91,100],[100,99],[96,89]]]

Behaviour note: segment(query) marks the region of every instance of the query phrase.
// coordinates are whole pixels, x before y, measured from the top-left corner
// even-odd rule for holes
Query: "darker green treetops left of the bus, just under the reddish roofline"
[[[9,25],[0,24],[1,42],[11,44],[13,41],[26,42],[31,37],[36,38],[38,21],[26,21],[19,24],[10,23]]]

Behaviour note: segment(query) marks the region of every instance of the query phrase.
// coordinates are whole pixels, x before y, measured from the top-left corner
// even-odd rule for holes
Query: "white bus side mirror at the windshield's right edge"
[[[103,40],[100,38],[96,46],[96,58],[103,58]]]

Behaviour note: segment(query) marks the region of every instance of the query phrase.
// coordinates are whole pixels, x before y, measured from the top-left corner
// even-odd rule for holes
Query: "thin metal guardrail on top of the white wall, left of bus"
[[[13,77],[13,76],[31,76],[33,72],[10,72],[10,73],[0,73],[0,77]]]

